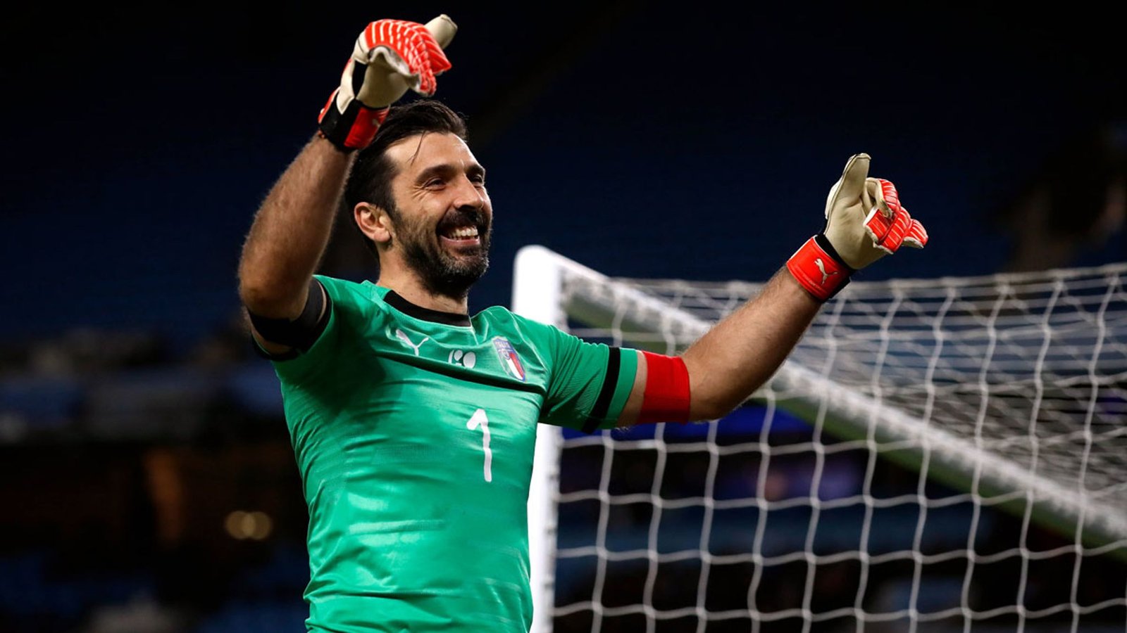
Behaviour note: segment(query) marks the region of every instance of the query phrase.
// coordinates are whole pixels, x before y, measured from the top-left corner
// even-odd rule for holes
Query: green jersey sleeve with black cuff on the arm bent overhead
[[[326,363],[339,359],[338,355],[345,347],[344,339],[348,337],[349,329],[360,322],[361,312],[365,310],[364,303],[358,301],[358,284],[323,275],[314,275],[314,278],[325,287],[328,322],[308,350],[294,349],[291,354],[272,359],[278,377],[287,382],[308,380],[318,374],[318,369],[323,368]]]

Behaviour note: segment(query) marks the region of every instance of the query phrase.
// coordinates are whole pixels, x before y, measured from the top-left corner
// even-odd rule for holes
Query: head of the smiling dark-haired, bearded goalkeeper
[[[470,286],[489,266],[485,184],[456,114],[436,101],[397,108],[361,152],[345,193],[382,285],[464,313]]]

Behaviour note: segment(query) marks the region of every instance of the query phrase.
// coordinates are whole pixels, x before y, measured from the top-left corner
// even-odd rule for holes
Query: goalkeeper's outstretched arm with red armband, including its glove
[[[638,351],[620,426],[712,420],[744,402],[779,369],[822,305],[850,275],[928,233],[888,180],[869,178],[869,155],[850,158],[826,199],[826,225],[762,291],[680,357]]]

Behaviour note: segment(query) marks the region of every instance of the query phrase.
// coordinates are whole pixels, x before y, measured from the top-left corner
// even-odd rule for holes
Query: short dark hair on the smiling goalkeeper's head
[[[434,99],[416,99],[391,107],[372,144],[356,153],[356,161],[345,181],[343,203],[349,219],[356,205],[365,202],[387,211],[392,220],[397,220],[396,198],[391,193],[396,166],[388,158],[388,148],[403,139],[431,132],[454,134],[464,141],[465,118]],[[360,231],[360,226],[356,230]],[[372,255],[376,255],[375,242],[363,233],[361,237]]]

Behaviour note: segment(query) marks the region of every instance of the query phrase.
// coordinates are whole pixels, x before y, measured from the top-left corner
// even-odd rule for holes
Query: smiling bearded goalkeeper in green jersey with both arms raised
[[[447,107],[391,107],[433,95],[454,29],[445,16],[364,29],[239,262],[309,508],[311,631],[527,631],[538,424],[722,417],[851,273],[928,239],[857,154],[822,232],[680,357],[585,342],[504,307],[470,315],[494,220],[485,168]],[[314,275],[341,198],[379,260],[374,280]]]

